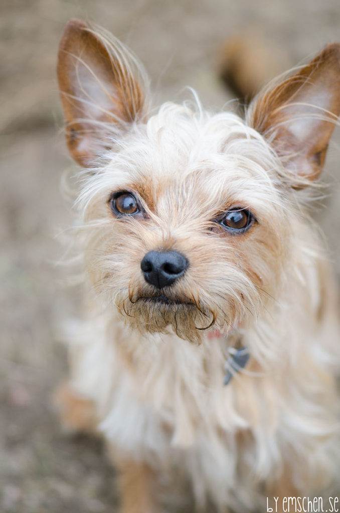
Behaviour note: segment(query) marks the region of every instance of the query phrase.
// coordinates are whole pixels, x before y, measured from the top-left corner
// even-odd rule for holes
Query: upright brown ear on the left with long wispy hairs
[[[108,146],[110,134],[143,120],[144,71],[110,34],[71,19],[60,42],[57,72],[69,151],[89,166]]]

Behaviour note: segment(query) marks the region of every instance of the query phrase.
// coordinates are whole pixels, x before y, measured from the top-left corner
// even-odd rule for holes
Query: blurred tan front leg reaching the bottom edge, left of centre
[[[121,499],[119,513],[160,513],[155,471],[145,463],[115,459]]]

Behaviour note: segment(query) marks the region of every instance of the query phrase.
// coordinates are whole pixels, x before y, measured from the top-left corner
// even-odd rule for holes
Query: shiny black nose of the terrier
[[[149,251],[141,262],[145,280],[157,288],[172,285],[187,266],[188,261],[177,251]]]

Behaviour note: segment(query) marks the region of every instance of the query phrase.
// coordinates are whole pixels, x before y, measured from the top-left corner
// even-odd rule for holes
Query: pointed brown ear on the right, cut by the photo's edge
[[[250,105],[247,121],[286,161],[295,187],[316,180],[340,113],[340,44],[328,45],[313,61]]]

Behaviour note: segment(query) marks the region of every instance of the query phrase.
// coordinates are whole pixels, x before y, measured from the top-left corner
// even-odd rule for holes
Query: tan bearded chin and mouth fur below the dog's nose
[[[172,328],[178,337],[194,343],[200,343],[204,331],[215,322],[212,312],[190,299],[165,294],[140,295],[118,306],[130,327],[143,334],[168,333]]]

